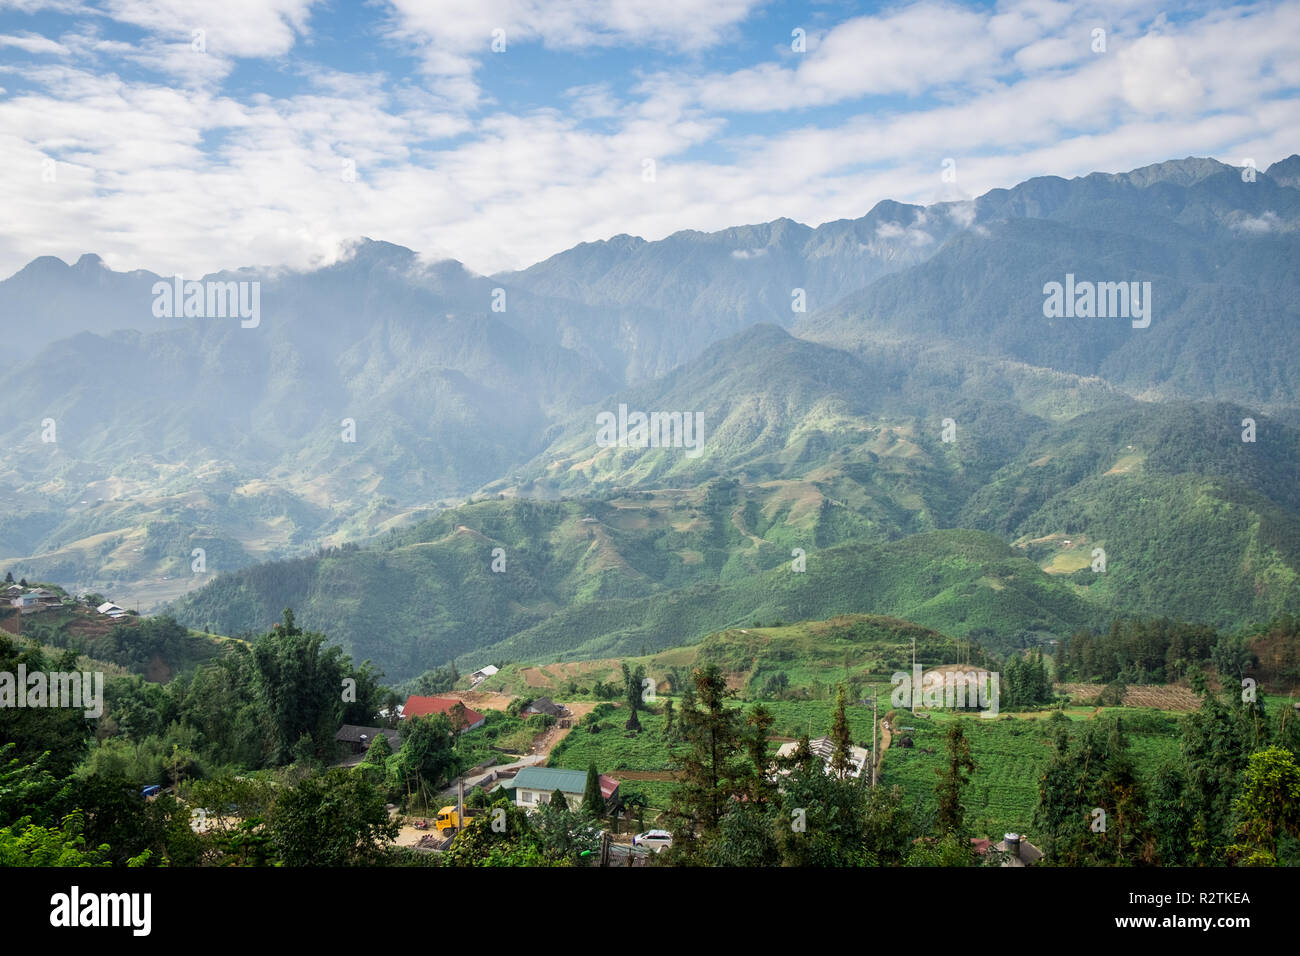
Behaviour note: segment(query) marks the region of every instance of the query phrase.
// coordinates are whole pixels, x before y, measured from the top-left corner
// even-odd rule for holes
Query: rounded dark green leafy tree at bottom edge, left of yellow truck
[[[398,835],[384,795],[342,767],[312,774],[282,793],[266,827],[286,866],[376,865]]]

